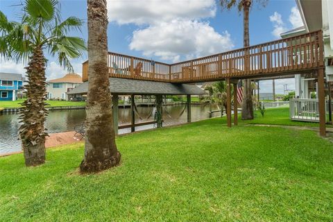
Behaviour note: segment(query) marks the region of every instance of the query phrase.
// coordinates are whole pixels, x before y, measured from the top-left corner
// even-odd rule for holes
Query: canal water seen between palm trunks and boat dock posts
[[[183,111],[184,105],[167,105],[163,107],[164,126],[172,126],[187,122],[187,111]],[[153,121],[153,107],[137,107],[135,119],[137,123]],[[212,110],[217,110],[214,107]],[[154,110],[155,111],[155,110]],[[221,116],[220,112],[215,112],[213,117]],[[21,151],[21,142],[17,133],[20,126],[18,114],[0,114],[0,154]],[[191,105],[191,119],[198,121],[209,118],[209,107],[203,105]],[[73,131],[75,126],[80,125],[85,120],[85,110],[59,110],[49,112],[46,119],[45,128],[48,133],[61,133]],[[119,107],[119,125],[130,124],[130,108]],[[135,130],[145,130],[153,128],[153,125],[139,126]],[[119,130],[119,134],[130,133],[130,128]]]

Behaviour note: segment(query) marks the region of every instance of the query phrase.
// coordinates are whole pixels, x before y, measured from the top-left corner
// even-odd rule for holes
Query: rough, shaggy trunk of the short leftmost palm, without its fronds
[[[19,137],[22,139],[26,166],[29,167],[45,162],[46,78],[45,58],[40,46],[33,51],[33,56],[26,67],[26,74],[28,76],[27,99],[22,103],[24,108],[20,112],[22,126],[19,128]]]

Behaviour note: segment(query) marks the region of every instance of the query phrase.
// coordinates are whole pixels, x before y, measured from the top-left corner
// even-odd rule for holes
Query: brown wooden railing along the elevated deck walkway
[[[87,65],[87,62],[83,63],[83,80],[87,80]],[[108,54],[110,77],[173,83],[291,74],[323,65],[322,31],[172,65],[118,53]]]

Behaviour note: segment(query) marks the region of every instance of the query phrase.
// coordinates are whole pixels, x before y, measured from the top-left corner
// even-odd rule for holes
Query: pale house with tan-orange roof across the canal
[[[47,99],[68,100],[67,92],[80,85],[82,77],[79,74],[66,74],[62,78],[47,81]]]

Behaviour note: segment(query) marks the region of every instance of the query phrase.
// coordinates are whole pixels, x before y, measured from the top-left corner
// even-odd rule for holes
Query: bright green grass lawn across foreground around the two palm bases
[[[88,176],[82,143],[40,167],[1,157],[0,221],[333,221],[333,146],[314,131],[216,118],[117,146],[121,165]]]

